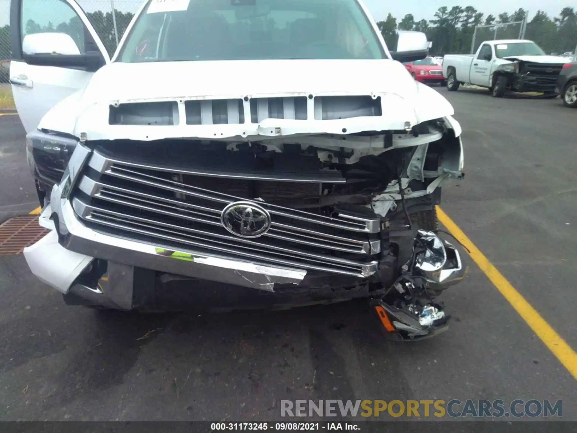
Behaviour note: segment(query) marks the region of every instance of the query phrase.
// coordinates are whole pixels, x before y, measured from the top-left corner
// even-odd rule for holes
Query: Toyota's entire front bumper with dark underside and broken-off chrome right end
[[[53,219],[50,219],[51,215]],[[59,234],[53,222],[60,218],[56,215],[63,215],[63,221],[68,222],[68,235]],[[151,245],[92,232],[81,225],[69,205],[63,211],[53,214],[48,204],[40,215],[40,224],[51,229],[51,232],[36,244],[25,248],[25,258],[32,273],[65,294],[69,304],[130,310],[149,308],[151,301],[160,298],[159,303],[163,306],[173,305],[169,307],[171,309],[192,304],[199,308],[226,309],[230,305],[232,308],[239,305],[306,305],[319,300],[340,301],[371,296],[368,290],[361,290],[339,297],[341,295],[331,288],[331,282],[336,281],[308,275],[305,270],[266,267],[206,255],[189,255],[181,259],[159,255]],[[58,226],[63,228],[60,223]],[[70,233],[70,229],[74,234]],[[447,241],[443,245],[446,257],[443,266],[419,274],[426,279],[430,290],[444,290],[458,283],[466,274],[459,252]],[[85,278],[103,260],[107,262],[106,275],[92,280]],[[338,278],[340,281],[336,283],[341,284],[343,277]],[[194,288],[200,290],[191,291],[191,282]],[[215,286],[215,283],[220,284]],[[319,290],[321,286],[325,286],[324,291]],[[219,304],[220,295],[209,298],[214,294],[215,287],[220,290],[220,295],[224,294],[227,303]],[[239,290],[242,288],[260,290]],[[272,293],[273,289],[275,293]],[[163,295],[158,296],[159,293]],[[260,293],[261,296],[257,296],[255,301],[250,293]],[[262,296],[266,293],[271,296]]]

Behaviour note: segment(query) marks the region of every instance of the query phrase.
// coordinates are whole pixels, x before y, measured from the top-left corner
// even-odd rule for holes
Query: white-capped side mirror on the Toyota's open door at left
[[[24,61],[29,65],[78,68],[95,72],[106,64],[99,51],[80,54],[74,39],[66,33],[34,33],[22,41]]]

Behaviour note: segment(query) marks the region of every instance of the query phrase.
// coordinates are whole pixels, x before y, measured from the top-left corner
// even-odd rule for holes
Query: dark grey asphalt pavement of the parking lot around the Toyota
[[[441,207],[576,349],[577,111],[559,99],[439,91],[463,126],[466,161]],[[16,116],[0,117],[0,164],[2,215],[31,211]],[[102,313],[64,305],[23,256],[0,256],[0,419],[281,420],[280,400],[458,398],[563,400],[563,419],[577,420],[575,379],[469,262],[441,297],[449,330],[392,344],[364,301]]]

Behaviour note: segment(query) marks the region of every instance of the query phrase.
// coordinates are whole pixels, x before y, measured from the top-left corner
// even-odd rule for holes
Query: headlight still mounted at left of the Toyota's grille
[[[26,136],[26,156],[32,174],[38,180],[57,184],[68,165],[78,140],[52,132],[35,130]]]

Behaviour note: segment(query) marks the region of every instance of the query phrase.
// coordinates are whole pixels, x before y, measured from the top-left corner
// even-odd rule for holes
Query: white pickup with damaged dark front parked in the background
[[[543,92],[556,96],[555,83],[563,68],[560,57],[546,55],[531,40],[488,40],[475,54],[449,54],[443,58],[447,88],[461,83],[488,87],[501,98],[507,90]]]

